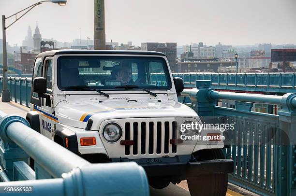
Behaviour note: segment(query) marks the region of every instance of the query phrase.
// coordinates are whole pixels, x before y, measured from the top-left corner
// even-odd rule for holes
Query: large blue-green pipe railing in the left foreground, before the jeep
[[[91,164],[29,126],[0,112],[1,187],[32,186],[34,196],[149,195],[145,170],[136,163]]]

